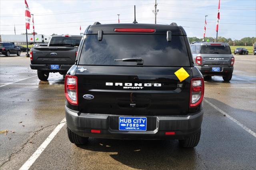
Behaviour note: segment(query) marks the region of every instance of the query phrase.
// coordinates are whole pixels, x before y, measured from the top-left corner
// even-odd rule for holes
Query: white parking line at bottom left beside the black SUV
[[[42,154],[44,149],[50,144],[54,136],[60,131],[60,129],[66,124],[66,118],[64,118],[58,126],[52,131],[52,133],[46,138],[46,140],[37,148],[36,152],[30,156],[30,158],[20,167],[20,170],[28,170],[30,166],[36,161],[36,159]]]

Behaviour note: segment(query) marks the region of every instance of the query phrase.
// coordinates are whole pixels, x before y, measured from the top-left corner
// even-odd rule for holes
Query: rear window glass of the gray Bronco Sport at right
[[[229,46],[196,46],[196,53],[200,54],[231,54]]]

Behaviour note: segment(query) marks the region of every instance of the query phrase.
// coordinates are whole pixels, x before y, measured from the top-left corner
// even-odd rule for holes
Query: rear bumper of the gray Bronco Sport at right
[[[220,72],[213,72],[212,67],[220,67]],[[203,74],[203,75],[211,75],[211,76],[224,76],[226,73],[232,73],[234,70],[234,67],[221,67],[221,66],[210,66],[210,67],[201,67],[201,66],[196,66],[198,70]]]

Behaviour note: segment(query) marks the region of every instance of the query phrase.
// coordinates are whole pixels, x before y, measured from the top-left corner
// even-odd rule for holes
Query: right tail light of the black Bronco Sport
[[[204,99],[204,78],[192,78],[190,80],[189,107],[197,107]]]

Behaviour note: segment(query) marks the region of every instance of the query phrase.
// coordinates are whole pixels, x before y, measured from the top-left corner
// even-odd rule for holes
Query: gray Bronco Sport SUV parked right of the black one
[[[194,42],[190,44],[195,66],[206,76],[222,76],[230,81],[234,70],[235,58],[230,46],[224,42]]]

